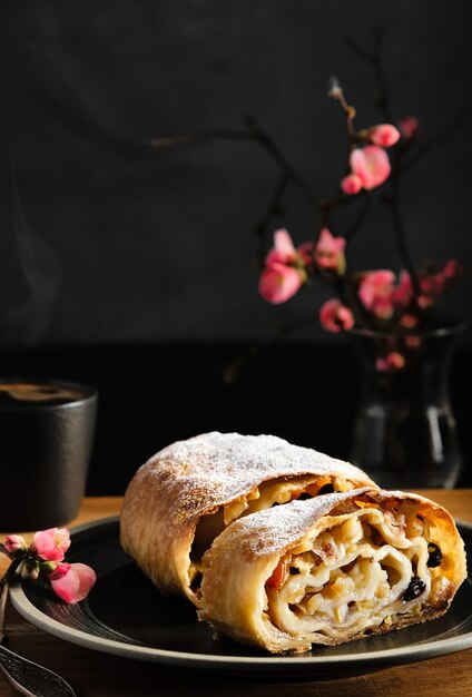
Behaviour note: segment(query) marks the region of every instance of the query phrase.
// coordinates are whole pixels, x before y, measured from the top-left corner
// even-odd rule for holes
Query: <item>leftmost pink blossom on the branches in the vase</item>
[[[265,259],[258,291],[264,300],[278,305],[293,297],[306,281],[304,256],[295,249],[286,229],[274,233],[274,247]]]

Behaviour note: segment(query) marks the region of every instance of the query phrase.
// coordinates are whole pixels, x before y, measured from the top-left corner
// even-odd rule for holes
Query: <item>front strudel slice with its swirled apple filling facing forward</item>
[[[448,511],[362,489],[235,521],[204,557],[198,616],[244,644],[303,652],[440,617],[465,576]]]

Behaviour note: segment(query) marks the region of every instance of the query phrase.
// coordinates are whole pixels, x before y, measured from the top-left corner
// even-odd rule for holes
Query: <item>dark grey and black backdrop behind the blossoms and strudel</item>
[[[374,27],[384,29],[393,114],[416,115],[427,139],[471,106],[471,4],[24,0],[6,4],[1,16],[3,372],[41,371],[98,384],[102,405],[90,491],[109,491],[110,478],[120,490],[129,471],[167,440],[219,426],[272,430],[347,457],[356,383],[352,377],[346,387],[342,375],[355,369],[343,342],[315,321],[292,341],[314,351],[328,342],[323,355],[337,362],[331,370],[319,371],[314,357],[313,365],[298,362],[292,370],[285,363],[281,372],[279,362],[294,355],[272,352],[237,399],[214,382],[240,347],[267,340],[274,322],[315,316],[326,297],[316,288],[274,308],[257,295],[254,226],[277,181],[274,161],[252,143],[154,150],[144,140],[212,126],[239,128],[249,112],[314,190],[331,195],[343,168],[345,134],[327,98],[330,76],[340,77],[360,125],[378,121],[375,76],[345,37],[371,50]],[[466,272],[472,266],[470,126],[466,118],[403,180],[416,263],[455,256]],[[317,220],[305,199],[292,188],[284,203],[282,222],[295,240],[309,238]],[[382,205],[374,206],[353,252],[362,268],[399,267]],[[448,305],[466,320],[471,291],[466,273]],[[469,345],[466,335],[463,346]],[[341,346],[345,353],[337,354]],[[340,363],[343,371],[351,366],[347,373],[340,375]],[[468,364],[464,359],[461,371]],[[264,371],[266,379],[259,377]],[[284,428],[296,410],[305,423],[308,404],[301,404],[298,393],[295,413],[291,404],[285,421],[271,421],[276,396],[260,406],[257,380],[275,374],[286,409],[293,381],[313,373],[324,402],[313,408],[313,430]],[[350,391],[341,414],[333,386]],[[117,424],[126,446],[117,446]]]

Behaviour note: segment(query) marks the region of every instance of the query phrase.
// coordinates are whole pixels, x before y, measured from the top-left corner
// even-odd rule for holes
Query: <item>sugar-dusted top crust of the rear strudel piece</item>
[[[176,518],[181,521],[234,501],[263,481],[302,474],[334,475],[356,487],[373,485],[354,465],[275,435],[217,431],[168,445],[148,460],[135,479],[168,497],[170,517],[177,522]]]

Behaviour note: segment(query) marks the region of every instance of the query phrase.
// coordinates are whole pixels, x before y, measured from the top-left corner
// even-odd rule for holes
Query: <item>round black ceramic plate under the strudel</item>
[[[460,526],[460,530],[471,559],[472,527]],[[198,622],[189,602],[163,597],[141,575],[120,549],[118,534],[118,519],[72,531],[67,560],[88,563],[98,577],[81,603],[63,603],[37,582],[11,589],[16,609],[41,629],[95,650],[205,670],[272,676],[363,671],[472,647],[470,580],[441,619],[362,641],[314,648],[302,656],[268,656],[229,639],[216,641],[212,630]]]

